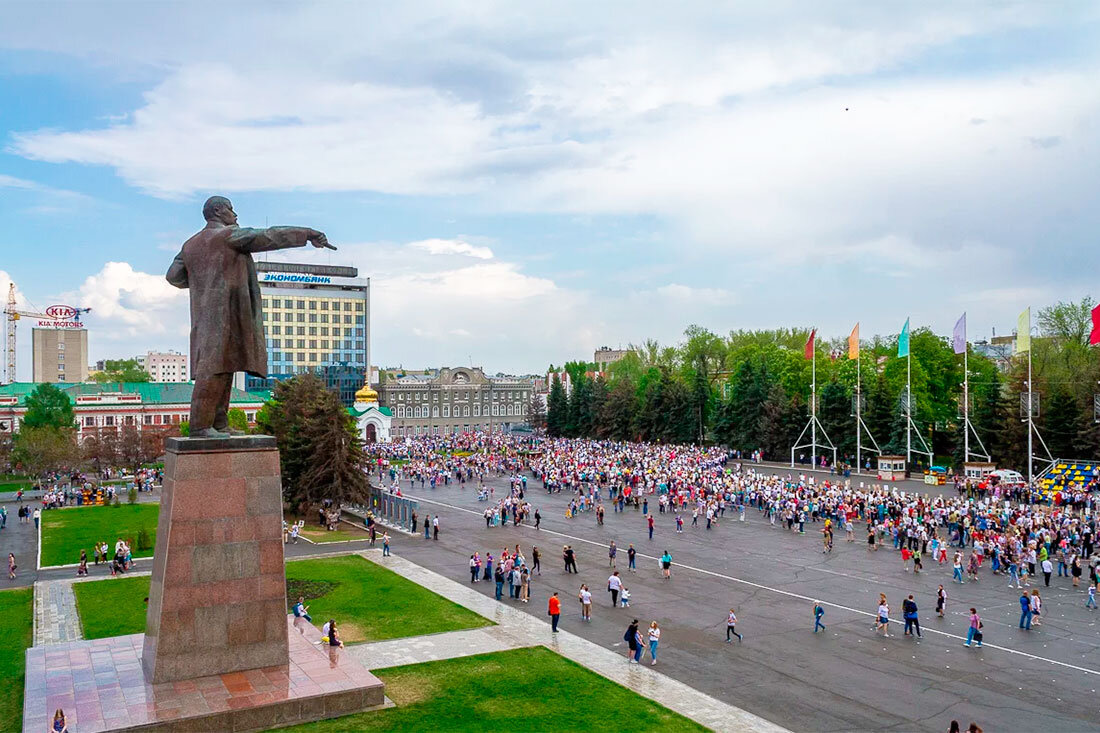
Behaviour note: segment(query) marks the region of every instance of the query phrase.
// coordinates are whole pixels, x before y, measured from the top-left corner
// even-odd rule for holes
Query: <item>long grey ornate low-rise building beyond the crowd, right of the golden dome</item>
[[[510,430],[527,423],[534,381],[487,376],[476,366],[439,370],[436,376],[398,374],[380,387],[389,409],[389,436]]]

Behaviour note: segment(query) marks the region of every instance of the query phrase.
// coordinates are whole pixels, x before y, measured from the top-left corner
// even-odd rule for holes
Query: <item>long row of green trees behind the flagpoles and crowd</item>
[[[1038,313],[1032,338],[1037,393],[1035,425],[1055,458],[1100,456],[1094,413],[1100,392],[1100,350],[1088,343],[1091,298],[1057,303]],[[766,458],[788,460],[811,411],[812,362],[804,349],[810,329],[733,331],[698,326],[674,346],[648,340],[593,375],[596,365],[569,362],[566,390],[551,380],[546,428],[551,436],[659,442],[716,442]],[[847,339],[817,339],[817,416],[840,460],[856,453],[855,396],[884,453],[905,452],[906,360],[898,336],[862,340],[857,360]],[[1027,460],[1027,358],[1007,363],[968,344],[970,422],[1000,467],[1024,470]],[[964,452],[963,355],[950,339],[927,328],[910,333],[913,422],[938,463],[960,467]],[[870,441],[862,438],[865,449]],[[915,438],[914,438],[915,441]],[[971,452],[978,440],[970,438]],[[806,451],[809,452],[809,450]],[[1041,452],[1036,441],[1036,452]],[[914,460],[920,463],[920,461]],[[926,461],[924,461],[926,462]]]

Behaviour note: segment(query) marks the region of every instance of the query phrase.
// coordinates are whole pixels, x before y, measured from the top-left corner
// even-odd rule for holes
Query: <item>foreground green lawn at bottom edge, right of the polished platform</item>
[[[286,730],[706,730],[543,646],[380,669],[377,676],[396,708]]]

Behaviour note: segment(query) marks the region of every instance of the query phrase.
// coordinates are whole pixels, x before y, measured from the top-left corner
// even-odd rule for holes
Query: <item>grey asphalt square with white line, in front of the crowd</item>
[[[506,494],[506,479],[493,484],[497,496]],[[542,575],[532,579],[530,604],[517,608],[544,620],[546,599],[557,590],[563,630],[619,652],[631,619],[656,620],[663,630],[658,669],[791,730],[945,731],[957,719],[987,731],[1089,731],[1100,720],[1100,613],[1085,609],[1084,584],[1072,589],[1067,578],[1055,578],[1050,588],[1040,579],[1044,623],[1028,633],[1016,627],[1019,592],[1007,588],[1005,579],[983,568],[980,582],[959,586],[950,582],[949,564],[933,562],[919,576],[905,572],[898,553],[867,550],[862,525],[857,525],[857,541],[846,543],[839,532],[835,550],[823,555],[821,524],[807,523],[800,536],[771,526],[755,508],[744,524],[727,511],[710,532],[702,522],[692,528],[689,515],[683,534],[675,533],[674,515],[658,513],[649,540],[640,511],[608,511],[602,527],[593,513],[566,519],[569,495],[548,495],[535,482],[527,499],[541,511],[539,530],[486,528],[486,504],[476,501],[473,483],[435,490],[418,483],[409,490],[406,482],[403,491],[420,500],[421,517],[439,512],[441,535],[438,541],[398,535],[393,539],[398,556],[492,595],[493,583],[469,583],[470,555],[496,557],[518,543],[530,561],[530,547],[538,545]],[[657,511],[656,502],[651,507]],[[613,610],[605,592],[613,539],[630,609]],[[638,550],[636,573],[626,570],[631,543]],[[563,571],[563,544],[578,553],[578,576]],[[298,546],[292,553],[309,549]],[[669,581],[657,567],[664,549],[674,562]],[[595,597],[591,623],[581,621],[575,601],[582,582]],[[934,613],[938,583],[949,594],[942,620]],[[892,638],[871,631],[880,592],[898,617],[901,601],[914,594],[923,638],[902,636],[901,624]],[[812,633],[814,600],[826,609],[825,633]],[[963,645],[970,605],[985,620],[981,649]],[[730,608],[745,634],[741,644],[725,643]]]

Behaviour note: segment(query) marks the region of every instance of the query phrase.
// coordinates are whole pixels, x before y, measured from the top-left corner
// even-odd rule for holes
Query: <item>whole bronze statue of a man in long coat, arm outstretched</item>
[[[184,242],[166,275],[176,287],[191,291],[190,435],[226,438],[229,395],[234,372],[267,376],[260,281],[253,252],[292,247],[337,248],[308,227],[241,229],[233,205],[211,196],[202,206],[207,226]]]

